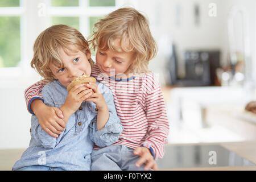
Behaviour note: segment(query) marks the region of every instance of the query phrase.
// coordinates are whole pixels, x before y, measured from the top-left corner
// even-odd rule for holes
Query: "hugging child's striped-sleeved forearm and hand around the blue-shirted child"
[[[63,113],[57,107],[49,107],[44,104],[41,91],[47,81],[36,82],[25,90],[27,109],[31,114],[36,115],[39,124],[44,131],[52,137],[57,138],[65,128]],[[33,113],[34,111],[34,113]]]

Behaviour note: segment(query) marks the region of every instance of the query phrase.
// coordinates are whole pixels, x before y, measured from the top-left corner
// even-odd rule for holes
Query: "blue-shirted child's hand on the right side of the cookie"
[[[100,90],[98,90],[98,86],[94,82],[90,82],[86,84],[89,89],[93,90],[92,96],[90,96],[86,101],[92,101],[96,104],[98,110],[106,110],[108,109],[108,105],[106,104],[105,98],[102,96]]]

